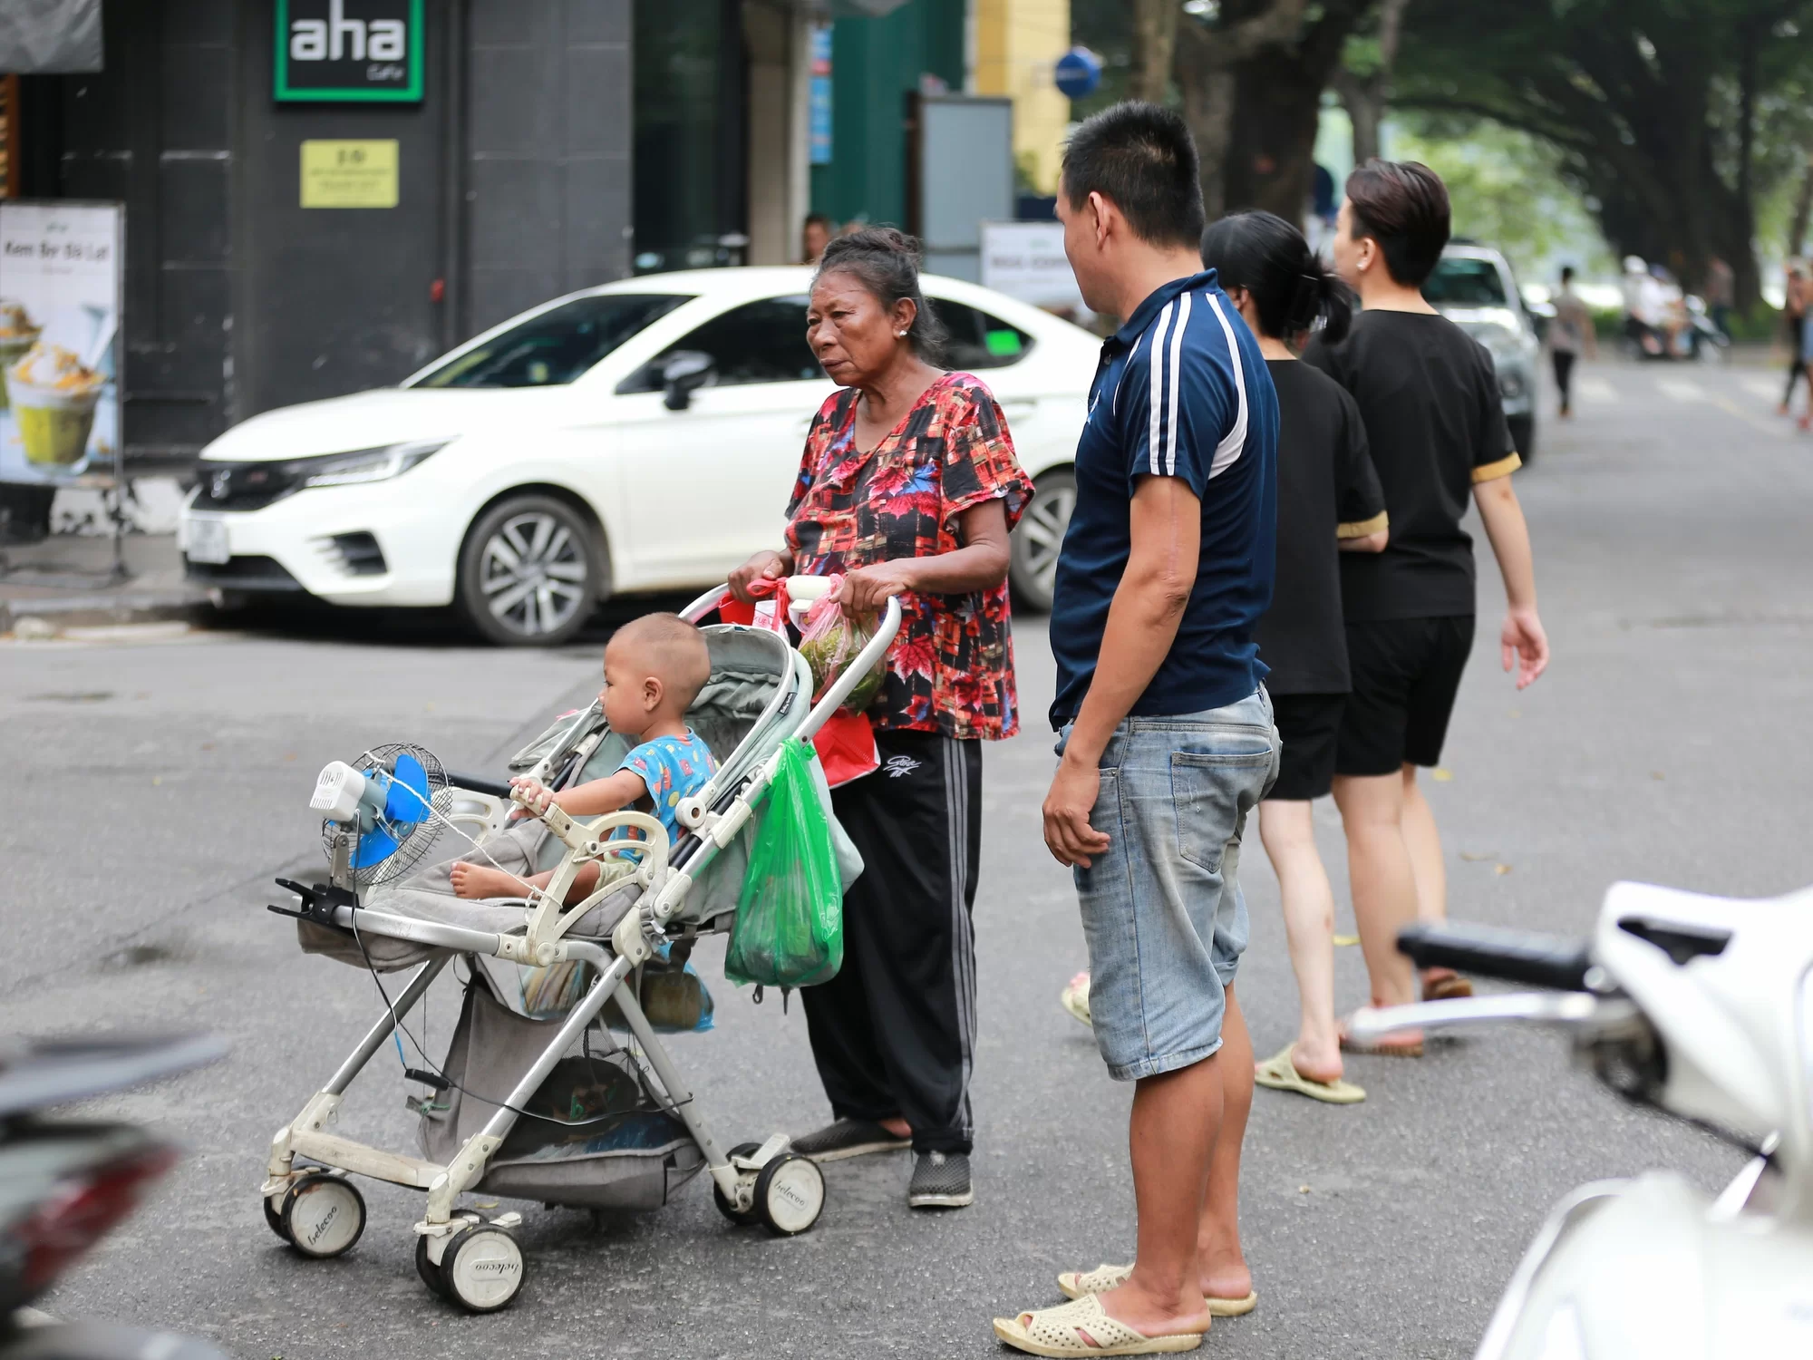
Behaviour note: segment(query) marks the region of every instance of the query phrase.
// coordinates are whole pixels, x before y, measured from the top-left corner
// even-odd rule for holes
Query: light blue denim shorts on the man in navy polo
[[[1070,740],[1066,727],[1059,751]],[[1222,1046],[1226,988],[1247,943],[1240,832],[1278,778],[1264,687],[1238,704],[1126,718],[1102,753],[1090,825],[1108,850],[1073,870],[1090,941],[1090,1017],[1115,1081]]]

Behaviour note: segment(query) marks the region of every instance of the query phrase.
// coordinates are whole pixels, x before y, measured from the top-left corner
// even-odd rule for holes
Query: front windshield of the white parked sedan
[[[676,292],[575,297],[499,332],[415,379],[419,388],[542,388],[571,383],[682,303]]]

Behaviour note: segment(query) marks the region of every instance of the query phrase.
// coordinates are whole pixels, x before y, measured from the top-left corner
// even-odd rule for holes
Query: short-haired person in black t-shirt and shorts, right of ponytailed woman
[[[1492,355],[1421,294],[1447,239],[1449,194],[1427,165],[1374,160],[1354,170],[1334,267],[1365,310],[1347,339],[1316,339],[1304,352],[1360,403],[1391,515],[1383,553],[1342,559],[1352,693],[1334,763],[1374,1005],[1414,999],[1400,927],[1447,914],[1441,838],[1416,769],[1441,758],[1472,647],[1474,555],[1461,528],[1469,491],[1505,578],[1505,669],[1517,664],[1523,689],[1548,665],[1530,535],[1510,486],[1519,459]],[[1423,977],[1425,997],[1469,992],[1447,970]],[[1345,1037],[1343,1046],[1352,1048]],[[1421,1035],[1403,1032],[1376,1052],[1420,1055]]]

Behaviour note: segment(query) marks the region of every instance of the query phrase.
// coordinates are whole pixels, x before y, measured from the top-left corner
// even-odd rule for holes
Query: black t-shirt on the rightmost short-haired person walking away
[[[1391,515],[1383,553],[1342,555],[1347,622],[1474,613],[1467,497],[1519,462],[1492,355],[1447,317],[1362,312],[1347,339],[1316,337],[1304,361],[1360,403]]]

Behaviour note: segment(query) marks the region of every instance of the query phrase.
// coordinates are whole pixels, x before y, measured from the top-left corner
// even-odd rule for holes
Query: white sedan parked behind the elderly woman
[[[709,586],[780,544],[812,415],[807,268],[654,274],[558,297],[397,388],[286,406],[201,452],[178,529],[227,593],[457,604],[488,638],[571,638],[607,595]],[[1099,341],[1003,294],[923,277],[1039,497],[1013,586],[1050,607]]]

